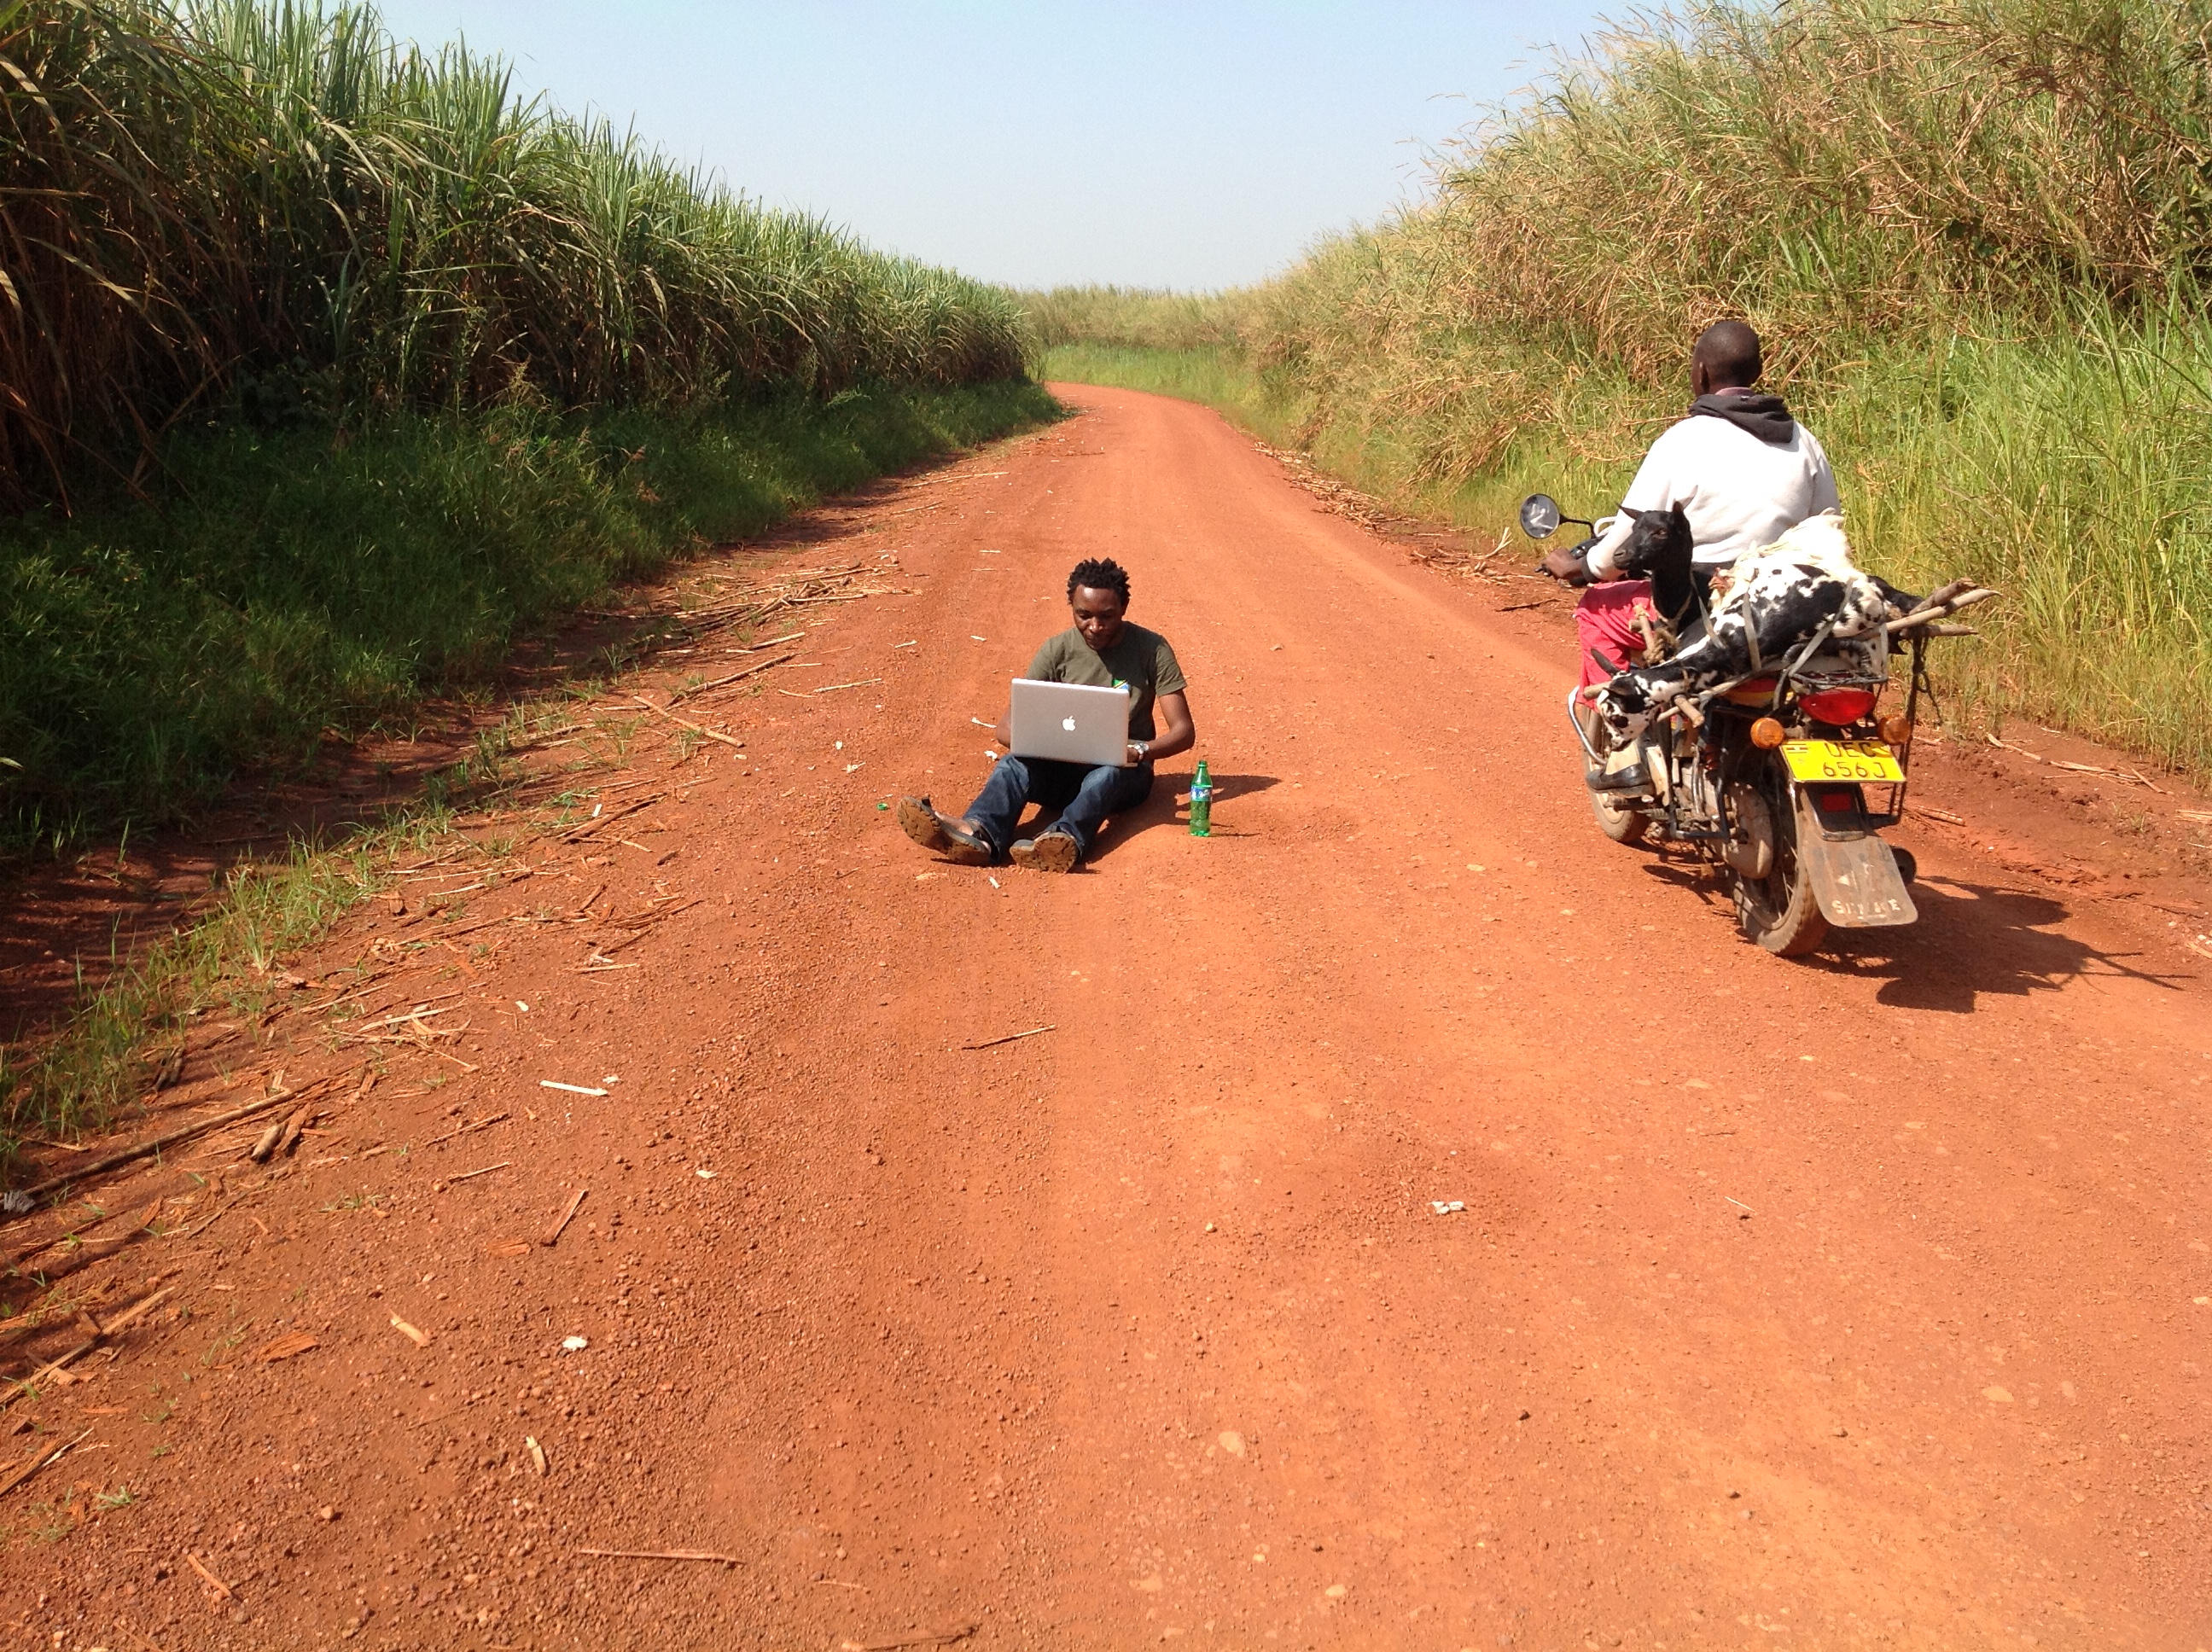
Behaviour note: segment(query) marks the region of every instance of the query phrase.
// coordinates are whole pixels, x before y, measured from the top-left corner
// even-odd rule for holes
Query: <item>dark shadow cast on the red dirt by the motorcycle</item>
[[[1803,960],[1832,975],[1882,980],[1876,1002],[1891,1008],[1971,1015],[1984,993],[2055,993],[2084,975],[2130,977],[2179,991],[2179,975],[2137,966],[2141,953],[2108,953],[2068,935],[2062,900],[2002,885],[1922,876],[1913,885],[1920,922],[1909,929],[1838,929]]]

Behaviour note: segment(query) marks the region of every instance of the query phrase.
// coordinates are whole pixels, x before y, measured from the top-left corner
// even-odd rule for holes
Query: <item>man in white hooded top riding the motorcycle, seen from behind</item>
[[[1544,568],[1568,584],[1593,582],[1575,608],[1582,683],[1613,675],[1590,659],[1595,648],[1626,668],[1644,648],[1637,602],[1650,606],[1650,579],[1621,579],[1613,553],[1628,542],[1628,511],[1681,506],[1697,544],[1699,588],[1750,551],[1763,551],[1798,522],[1838,509],[1836,475],[1814,433],[1790,418],[1781,396],[1752,389],[1763,372],[1759,334],[1741,321],[1717,321],[1690,352],[1690,418],[1659,433],[1628,484],[1624,511],[1590,546],[1584,564],[1553,551]]]

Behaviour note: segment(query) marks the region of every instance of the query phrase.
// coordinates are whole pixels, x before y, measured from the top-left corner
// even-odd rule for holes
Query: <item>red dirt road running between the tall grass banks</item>
[[[420,953],[473,1070],[111,1265],[177,1298],[15,1409],[93,1433],[0,1502],[4,1643],[2212,1641],[2208,966],[1911,836],[1918,929],[1767,958],[1595,832],[1517,597],[1062,394],[838,529],[916,595],[772,681],[858,688],[639,750],[648,851],[524,849],[526,905],[697,902],[639,969]],[[1091,553],[1217,836],[1164,783],[1079,876],[938,865],[878,803],[980,783]]]

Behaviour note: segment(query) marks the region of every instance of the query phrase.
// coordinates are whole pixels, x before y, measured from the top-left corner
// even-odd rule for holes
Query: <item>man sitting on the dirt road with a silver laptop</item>
[[[929,798],[898,801],[898,825],[925,849],[967,867],[1006,858],[1037,871],[1073,871],[1108,816],[1128,814],[1152,794],[1152,763],[1197,743],[1175,650],[1157,630],[1128,624],[1128,573],[1117,562],[1077,562],[1068,575],[1068,608],[1075,624],[1048,637],[1024,675],[1044,683],[1126,688],[1128,763],[1086,770],[1009,752],[958,820],[938,814]],[[1155,703],[1166,734],[1152,730]],[[1060,818],[1035,838],[1015,838],[1031,803],[1060,809]]]

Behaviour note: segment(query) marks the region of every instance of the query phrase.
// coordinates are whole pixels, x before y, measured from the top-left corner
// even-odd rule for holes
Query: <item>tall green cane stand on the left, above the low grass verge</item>
[[[0,4],[0,504],[241,394],[681,402],[1020,376],[1006,294],[772,212],[367,4]]]

